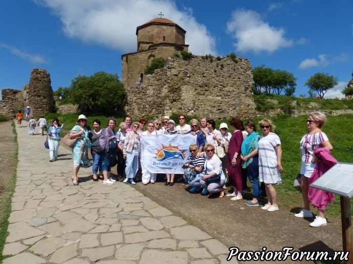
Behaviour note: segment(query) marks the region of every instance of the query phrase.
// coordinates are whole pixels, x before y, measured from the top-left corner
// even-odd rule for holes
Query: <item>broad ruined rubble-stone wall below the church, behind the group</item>
[[[256,116],[253,76],[248,59],[228,57],[213,62],[201,56],[190,61],[168,58],[166,66],[145,76],[138,87],[127,87],[126,112],[133,118],[172,113],[220,119]]]

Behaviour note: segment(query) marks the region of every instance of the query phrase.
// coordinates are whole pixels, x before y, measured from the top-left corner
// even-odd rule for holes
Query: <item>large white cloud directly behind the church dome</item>
[[[168,18],[187,31],[185,43],[193,54],[216,54],[215,38],[198,23],[192,10],[179,10],[171,0],[33,0],[57,15],[65,35],[123,52],[137,50],[136,28],[158,17]]]

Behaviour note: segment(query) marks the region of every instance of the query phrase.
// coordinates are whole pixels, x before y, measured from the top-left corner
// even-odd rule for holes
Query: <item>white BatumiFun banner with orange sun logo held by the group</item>
[[[196,137],[187,135],[141,135],[141,164],[149,173],[184,174],[182,165]]]

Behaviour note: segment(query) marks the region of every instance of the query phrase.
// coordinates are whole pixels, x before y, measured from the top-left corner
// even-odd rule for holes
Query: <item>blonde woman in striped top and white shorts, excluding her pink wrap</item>
[[[310,202],[308,199],[309,179],[317,165],[317,158],[314,155],[315,150],[324,148],[329,152],[333,150],[328,137],[322,132],[321,127],[326,123],[326,116],[322,112],[311,112],[306,120],[307,133],[300,140],[301,154],[301,193],[304,201],[304,208],[294,214],[298,218],[312,218],[313,213],[310,210]],[[319,216],[310,226],[319,227],[326,225],[327,221],[324,216],[324,210],[319,209]]]

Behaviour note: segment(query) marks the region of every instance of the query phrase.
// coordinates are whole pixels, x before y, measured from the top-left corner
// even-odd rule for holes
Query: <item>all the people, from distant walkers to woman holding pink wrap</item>
[[[17,115],[17,121],[21,121],[21,115]],[[304,208],[296,213],[295,217],[312,218],[313,213],[310,210],[312,203],[318,208],[318,216],[310,223],[313,227],[326,225],[325,208],[335,199],[333,194],[310,187],[314,180],[328,170],[327,168],[337,163],[330,155],[333,147],[321,130],[325,122],[326,116],[323,113],[310,113],[306,122],[308,132],[300,141],[302,157],[300,175]],[[153,184],[157,180],[157,174],[149,173],[140,162],[140,136],[190,133],[195,136],[196,142],[189,146],[190,156],[182,165],[184,185],[191,186],[190,193],[200,191],[202,195],[217,194],[220,198],[227,196],[231,197],[232,201],[240,201],[247,191],[249,179],[253,198],[245,204],[259,206],[260,196],[267,197],[268,202],[261,209],[269,212],[278,211],[274,185],[282,182],[280,174],[284,170],[281,164],[281,141],[274,133],[275,125],[268,118],[262,119],[258,123],[262,135],[258,133],[257,125],[252,120],[243,124],[239,118],[233,117],[229,125],[232,134],[228,132],[226,123],[220,124],[217,130],[213,119],[201,118],[200,122],[191,119],[188,125],[186,116],[180,115],[179,125],[176,126],[168,116],[164,116],[162,121],[160,119],[146,121],[141,118],[139,122],[133,124],[131,117],[126,116],[124,122],[119,124],[119,128],[113,117],[108,118],[104,128],[101,127],[101,122],[95,119],[91,130],[87,125],[87,118],[81,114],[70,134],[70,138],[76,140],[73,147],[73,184],[78,185],[79,168],[91,166],[87,155],[89,149],[93,158],[94,181],[102,179],[103,184],[114,184],[115,181],[136,184],[134,179],[141,174],[144,185]],[[60,126],[58,119],[54,118],[48,129],[50,161],[57,159],[62,127],[63,124]],[[222,153],[223,155],[220,155]],[[320,165],[321,163],[325,166]],[[115,165],[118,176],[116,179],[110,174],[111,167]],[[225,195],[227,176],[229,184],[233,186],[233,192]],[[165,177],[165,185],[173,186],[175,175],[166,174]]]

